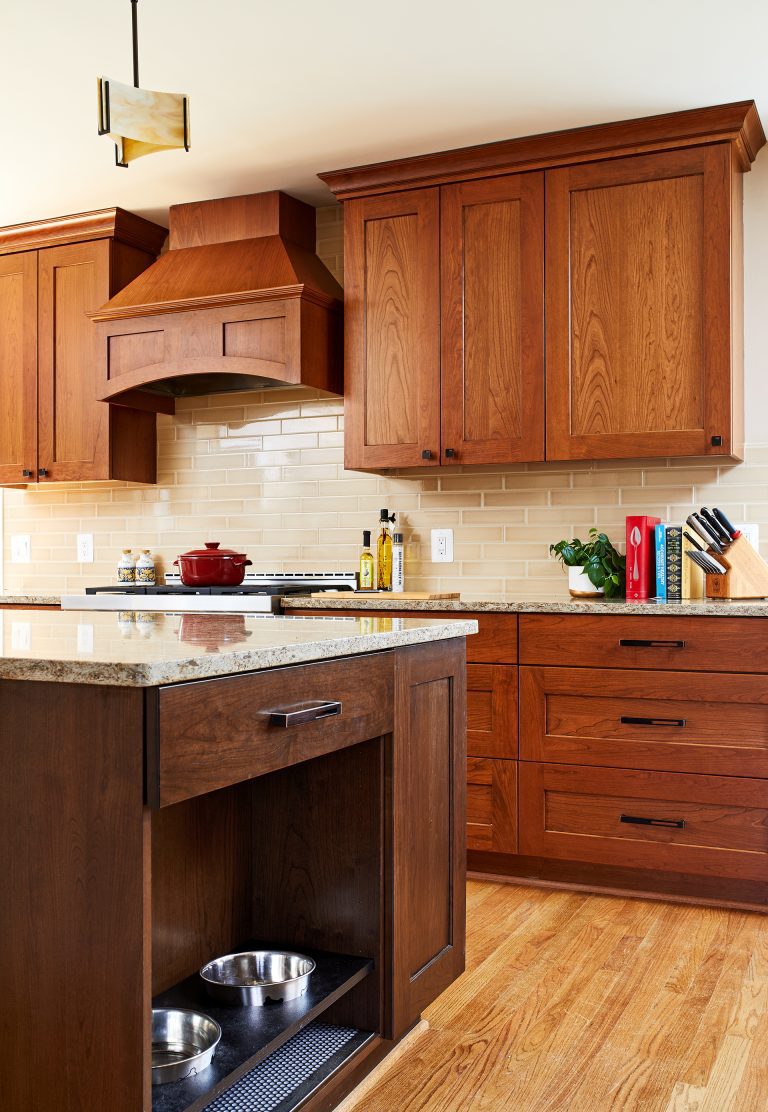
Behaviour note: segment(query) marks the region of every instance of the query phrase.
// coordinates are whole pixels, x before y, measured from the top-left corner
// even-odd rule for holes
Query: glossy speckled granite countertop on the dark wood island
[[[477,622],[0,610],[0,679],[152,687],[477,633]]]

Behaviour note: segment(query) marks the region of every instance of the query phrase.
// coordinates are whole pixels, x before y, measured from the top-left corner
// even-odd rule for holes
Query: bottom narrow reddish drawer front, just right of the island
[[[467,848],[517,853],[517,761],[467,761]]]

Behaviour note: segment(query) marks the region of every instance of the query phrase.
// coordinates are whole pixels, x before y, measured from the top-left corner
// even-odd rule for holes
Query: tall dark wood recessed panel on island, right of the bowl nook
[[[465,967],[466,648],[397,653],[392,752],[392,1037]]]

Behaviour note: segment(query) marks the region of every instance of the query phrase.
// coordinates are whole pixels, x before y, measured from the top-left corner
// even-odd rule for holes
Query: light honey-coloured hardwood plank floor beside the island
[[[356,1112],[768,1110],[768,916],[470,882],[467,920]]]

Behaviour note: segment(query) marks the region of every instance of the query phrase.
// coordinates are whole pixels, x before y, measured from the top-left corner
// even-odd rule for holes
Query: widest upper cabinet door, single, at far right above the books
[[[730,191],[727,145],[548,171],[548,458],[738,450]]]

